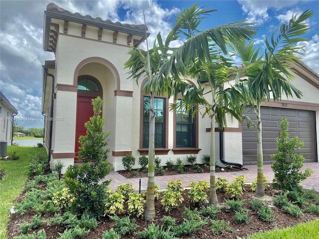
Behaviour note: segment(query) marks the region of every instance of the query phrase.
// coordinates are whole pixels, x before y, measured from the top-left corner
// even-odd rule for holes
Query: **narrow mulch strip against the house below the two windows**
[[[203,169],[203,173],[209,173],[209,166],[205,166],[204,164],[197,164]],[[176,174],[193,174],[196,173],[194,170],[194,167],[192,165],[185,165],[185,168],[187,171],[184,171],[183,173],[179,173],[176,169],[167,170],[167,167],[164,166],[164,173],[160,174],[155,172],[155,176],[169,176],[169,175],[176,175]],[[235,171],[241,171],[241,169],[236,167],[225,167],[223,168],[224,171],[222,171],[222,168],[216,167],[216,172],[235,172]],[[132,169],[131,171],[128,170],[119,170],[117,171],[119,174],[126,178],[145,178],[148,177],[148,173],[142,173],[140,169]]]

